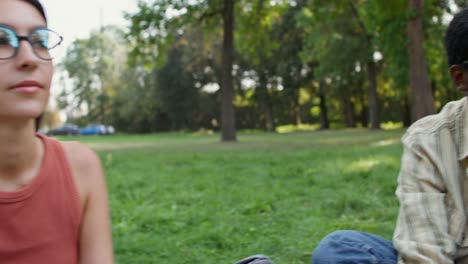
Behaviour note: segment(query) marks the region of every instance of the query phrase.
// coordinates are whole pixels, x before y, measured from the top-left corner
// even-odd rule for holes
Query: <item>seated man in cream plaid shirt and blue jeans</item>
[[[450,23],[445,48],[453,82],[468,91],[468,9]],[[314,264],[468,263],[467,100],[448,103],[403,136],[393,243],[357,231],[337,231],[314,250]]]

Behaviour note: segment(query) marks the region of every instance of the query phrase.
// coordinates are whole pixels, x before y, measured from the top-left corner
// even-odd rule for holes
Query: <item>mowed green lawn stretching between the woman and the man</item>
[[[403,130],[74,137],[106,172],[117,263],[310,263],[337,229],[391,238]]]

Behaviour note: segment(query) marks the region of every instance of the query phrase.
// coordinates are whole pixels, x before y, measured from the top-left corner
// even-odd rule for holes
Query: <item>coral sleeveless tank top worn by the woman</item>
[[[81,208],[61,144],[45,146],[39,174],[24,188],[0,192],[1,264],[76,264]]]

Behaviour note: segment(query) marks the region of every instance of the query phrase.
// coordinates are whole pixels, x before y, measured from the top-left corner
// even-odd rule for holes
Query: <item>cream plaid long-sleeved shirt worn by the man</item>
[[[412,125],[396,195],[398,263],[468,263],[468,99]]]

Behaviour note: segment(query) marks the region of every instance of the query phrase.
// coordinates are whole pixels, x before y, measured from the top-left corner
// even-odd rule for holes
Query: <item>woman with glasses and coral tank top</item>
[[[113,263],[97,155],[36,133],[62,37],[37,0],[0,1],[0,263]]]

